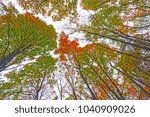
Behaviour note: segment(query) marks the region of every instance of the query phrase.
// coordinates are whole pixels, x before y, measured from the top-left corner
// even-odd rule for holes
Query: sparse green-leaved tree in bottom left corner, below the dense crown
[[[21,70],[6,74],[7,81],[0,85],[1,99],[53,99],[55,62],[51,56],[40,56],[36,62]]]

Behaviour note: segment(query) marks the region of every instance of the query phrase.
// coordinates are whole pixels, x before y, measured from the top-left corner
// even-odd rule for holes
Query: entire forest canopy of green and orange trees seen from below
[[[15,4],[0,0],[0,99],[150,99],[149,0]]]

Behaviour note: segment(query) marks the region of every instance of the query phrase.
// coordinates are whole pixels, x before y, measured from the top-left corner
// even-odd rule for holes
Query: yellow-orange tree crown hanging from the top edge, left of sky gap
[[[76,14],[77,0],[18,0],[24,9],[36,14],[52,16],[53,20],[61,20]]]

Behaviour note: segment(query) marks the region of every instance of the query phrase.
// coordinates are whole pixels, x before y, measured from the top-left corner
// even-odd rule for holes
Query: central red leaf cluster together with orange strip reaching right
[[[55,50],[55,54],[60,54],[60,60],[65,61],[67,60],[66,54],[76,55],[78,58],[80,54],[84,52],[93,53],[96,47],[95,43],[88,44],[85,47],[79,47],[78,40],[75,38],[73,41],[70,41],[68,35],[64,32],[60,34],[59,38],[59,47]]]

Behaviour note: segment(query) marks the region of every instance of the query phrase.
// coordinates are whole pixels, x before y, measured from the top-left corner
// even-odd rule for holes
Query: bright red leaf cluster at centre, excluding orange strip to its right
[[[60,54],[61,61],[66,60],[65,54],[75,54],[80,51],[81,48],[79,47],[77,39],[70,41],[68,35],[66,35],[64,32],[60,34],[59,48],[57,48],[54,53]]]

